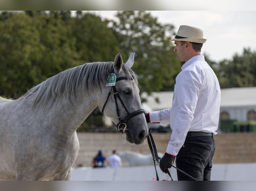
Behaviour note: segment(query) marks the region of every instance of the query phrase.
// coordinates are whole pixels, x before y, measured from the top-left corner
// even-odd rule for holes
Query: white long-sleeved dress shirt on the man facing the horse
[[[149,113],[150,122],[172,128],[166,152],[176,156],[188,131],[218,129],[221,90],[219,81],[203,55],[189,59],[176,77],[172,107]]]

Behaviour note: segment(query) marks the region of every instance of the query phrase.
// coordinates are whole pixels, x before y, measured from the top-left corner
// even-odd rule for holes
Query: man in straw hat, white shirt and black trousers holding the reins
[[[220,114],[220,85],[201,55],[207,39],[196,27],[181,25],[174,41],[177,59],[185,62],[176,77],[172,107],[146,113],[147,122],[172,128],[160,169],[167,173],[176,157],[176,167],[197,180],[210,180],[215,151],[214,136]],[[177,171],[178,180],[192,180]]]

